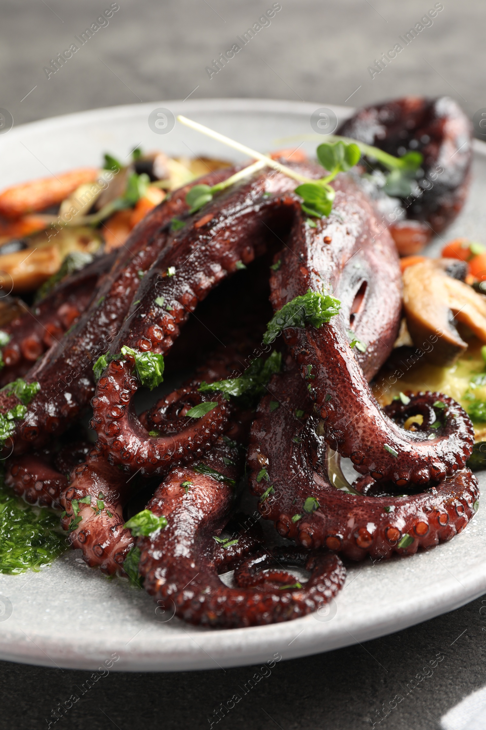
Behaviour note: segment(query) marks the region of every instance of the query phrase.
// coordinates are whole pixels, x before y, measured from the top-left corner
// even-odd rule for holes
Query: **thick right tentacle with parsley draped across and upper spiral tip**
[[[430,440],[423,433],[401,429],[378,406],[367,377],[383,364],[396,335],[401,311],[398,260],[388,231],[376,237],[375,214],[363,193],[344,177],[337,177],[333,185],[336,197],[329,218],[311,228],[302,214],[297,215],[292,249],[283,251],[270,287],[274,310],[323,286],[334,289],[334,296],[345,305],[320,328],[288,328],[283,337],[308,381],[321,415],[321,435],[341,456],[351,458],[358,472],[399,484],[442,479],[461,469],[471,454],[474,437],[469,418],[459,406],[451,406],[457,418],[448,422],[447,432]],[[358,320],[352,320],[348,332],[354,307],[348,306],[344,285],[355,267],[362,272],[356,281],[358,293],[364,283],[366,288]],[[367,296],[374,289],[380,296],[376,306],[368,308]],[[361,331],[366,331],[369,318],[376,324],[370,328],[371,337],[364,337],[366,352],[356,356],[350,340],[360,312],[365,318]]]

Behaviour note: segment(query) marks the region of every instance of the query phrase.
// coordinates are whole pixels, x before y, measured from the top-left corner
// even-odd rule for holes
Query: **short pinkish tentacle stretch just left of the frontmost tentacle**
[[[85,562],[92,568],[99,566],[106,575],[122,572],[133,548],[122,515],[133,488],[134,480],[130,483],[127,475],[93,449],[85,463],[75,467],[71,484],[60,495],[65,510],[61,525],[69,532],[71,547],[81,548]]]

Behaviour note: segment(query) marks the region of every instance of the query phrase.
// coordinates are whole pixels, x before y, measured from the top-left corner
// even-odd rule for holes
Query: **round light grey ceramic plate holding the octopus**
[[[229,99],[164,101],[83,112],[12,128],[0,136],[0,188],[73,166],[96,165],[109,151],[124,158],[136,145],[176,155],[238,160],[232,150],[176,124],[154,134],[150,112],[165,107],[258,150],[275,139],[308,134],[321,104]],[[352,110],[333,107],[342,120]],[[447,238],[485,241],[486,145],[475,142],[474,174],[466,207]],[[312,152],[315,143],[306,143]],[[441,241],[431,245],[434,251]],[[486,483],[486,475],[479,475]],[[254,629],[197,629],[156,612],[152,599],[119,580],[106,580],[79,552],[50,569],[0,575],[0,658],[31,664],[96,669],[112,656],[113,669],[215,669],[318,653],[404,629],[486,592],[486,510],[452,542],[407,558],[348,570],[345,588],[324,615]],[[157,615],[158,614],[158,615]]]

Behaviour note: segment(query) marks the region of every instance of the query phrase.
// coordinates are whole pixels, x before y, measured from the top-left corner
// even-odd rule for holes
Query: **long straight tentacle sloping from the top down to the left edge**
[[[214,172],[202,182],[214,185],[231,173],[231,169]],[[138,223],[105,277],[98,298],[62,342],[28,372],[26,380],[39,382],[41,389],[28,405],[26,418],[5,443],[7,453],[12,450],[12,442],[14,453],[43,445],[52,435],[66,430],[68,423],[87,407],[95,391],[93,364],[117,336],[141,277],[165,249],[174,216],[187,212],[188,190],[186,186],[175,191]],[[17,404],[15,396],[0,393],[1,412]]]

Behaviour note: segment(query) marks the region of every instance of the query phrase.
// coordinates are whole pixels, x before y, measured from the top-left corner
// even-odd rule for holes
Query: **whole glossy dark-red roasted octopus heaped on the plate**
[[[453,130],[454,143],[462,139],[461,124],[452,102],[403,99],[358,112],[341,132],[394,152],[398,141],[420,147],[428,165]],[[444,185],[424,191],[411,215],[439,228],[450,220],[463,199],[468,155],[466,148],[443,161]],[[311,162],[293,167],[322,177]],[[415,553],[452,538],[477,510],[477,480],[466,466],[474,431],[462,408],[440,393],[418,393],[382,410],[372,395],[369,380],[399,329],[399,258],[355,177],[340,174],[332,185],[332,212],[314,220],[295,181],[268,169],[197,212],[186,203],[191,186],[172,193],[109,269],[106,259],[92,265],[74,325],[65,334],[53,325],[60,341],[26,374],[40,390],[4,439],[7,484],[28,502],[60,506],[87,564],[108,575],[128,572],[185,621],[231,628],[305,615],[344,583],[339,555]],[[59,291],[38,305],[44,326],[49,312],[59,315],[59,296],[67,296]],[[323,292],[340,303],[329,321],[286,323],[287,304]],[[268,337],[272,314],[281,331]],[[28,337],[50,344],[38,328],[26,318],[10,326],[10,379],[25,374]],[[202,346],[204,332],[206,345],[221,342],[216,350]],[[218,390],[271,351],[281,369],[260,383],[259,402]],[[155,372],[161,356],[169,369],[200,366],[138,414],[140,362]],[[71,429],[59,447],[90,402],[95,443],[79,442]],[[15,391],[0,391],[1,412],[19,404]],[[422,425],[404,429],[417,413]],[[332,482],[331,455],[350,458],[358,472],[346,491]],[[256,517],[235,516],[248,479]],[[149,531],[127,525],[137,499],[146,503]],[[264,539],[261,517],[275,523],[278,545]],[[292,566],[307,572],[306,582]]]

